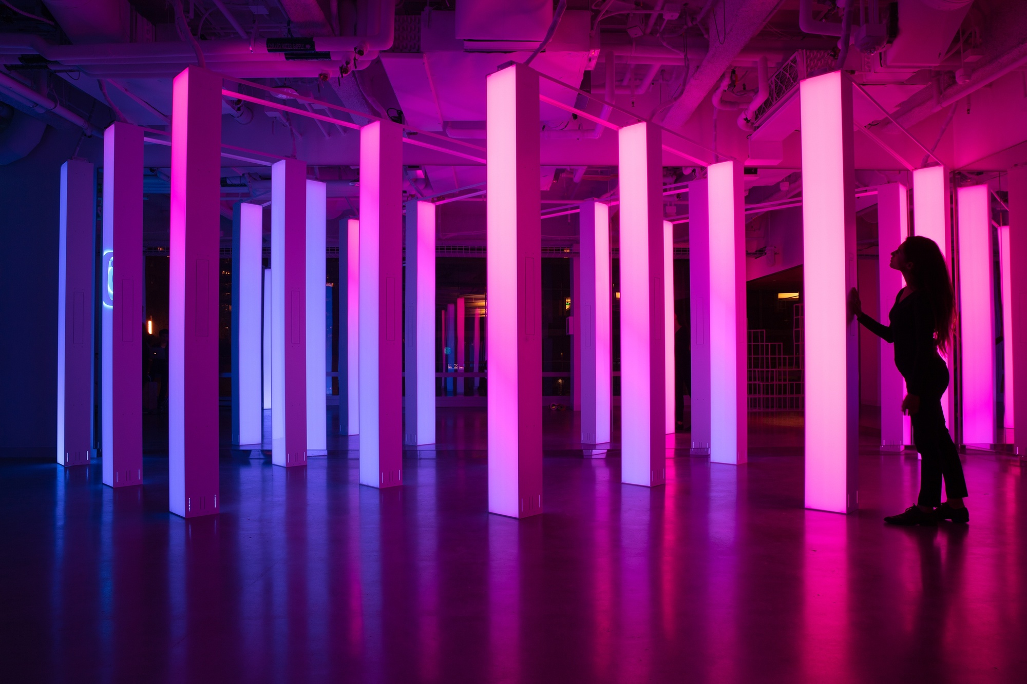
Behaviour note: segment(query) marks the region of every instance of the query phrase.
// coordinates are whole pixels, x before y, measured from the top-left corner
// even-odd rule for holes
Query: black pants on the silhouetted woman
[[[966,496],[959,453],[945,426],[942,413],[942,393],[949,384],[949,371],[942,366],[936,373],[928,392],[920,395],[920,410],[913,414],[913,444],[920,452],[921,506],[938,506],[942,502],[942,478],[945,494],[950,499]]]

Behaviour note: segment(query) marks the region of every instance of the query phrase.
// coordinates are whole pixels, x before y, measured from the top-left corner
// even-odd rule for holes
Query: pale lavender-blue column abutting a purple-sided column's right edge
[[[307,454],[328,453],[328,415],[325,398],[325,221],[327,186],[307,181],[306,332],[307,332]]]

